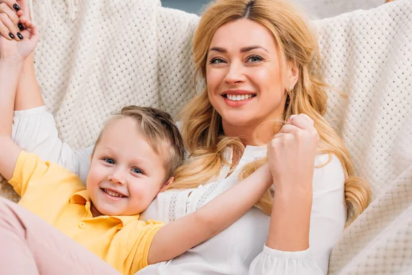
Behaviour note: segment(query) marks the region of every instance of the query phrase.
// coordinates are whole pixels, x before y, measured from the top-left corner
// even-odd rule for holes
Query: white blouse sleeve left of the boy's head
[[[12,140],[24,151],[66,168],[86,183],[93,146],[74,151],[62,142],[53,115],[45,106],[14,111]]]

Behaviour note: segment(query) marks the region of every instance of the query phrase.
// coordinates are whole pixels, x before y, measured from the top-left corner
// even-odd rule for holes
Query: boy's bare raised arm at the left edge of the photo
[[[14,96],[23,61],[0,59],[0,174],[12,178],[21,149],[11,139]]]

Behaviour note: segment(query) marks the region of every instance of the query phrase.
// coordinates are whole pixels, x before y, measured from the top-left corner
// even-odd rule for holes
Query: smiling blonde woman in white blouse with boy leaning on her
[[[142,219],[169,222],[203,206],[266,162],[266,146],[257,146],[261,144],[270,143],[275,192],[224,232],[139,274],[327,273],[330,251],[345,221],[353,221],[367,206],[369,189],[353,177],[343,142],[322,118],[326,93],[317,74],[318,56],[308,24],[288,1],[209,5],[194,36],[196,72],[207,87],[181,115],[191,155],[176,170],[175,184],[153,201]],[[27,109],[21,98],[16,109]],[[30,107],[41,104],[32,100]],[[73,153],[58,140],[48,113],[29,113],[36,115],[20,113],[15,125],[16,142],[26,143],[20,146],[54,144],[47,148],[49,159],[72,168],[77,163],[73,159],[82,158],[80,167],[87,167],[89,151]],[[314,132],[282,123],[299,113],[308,116],[300,115],[299,121],[313,121],[319,133],[314,162],[304,155],[316,145]]]

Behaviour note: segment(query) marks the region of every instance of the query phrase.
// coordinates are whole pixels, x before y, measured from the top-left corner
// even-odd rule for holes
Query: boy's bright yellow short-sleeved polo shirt
[[[93,218],[90,197],[77,175],[24,151],[9,182],[21,195],[21,206],[122,274],[135,274],[148,265],[150,243],[163,223],[139,221],[139,214]]]

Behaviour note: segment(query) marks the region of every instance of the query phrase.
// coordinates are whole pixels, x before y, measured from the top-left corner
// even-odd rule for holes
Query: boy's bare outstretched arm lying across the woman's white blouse
[[[202,208],[163,226],[150,245],[148,264],[168,261],[222,232],[250,210],[272,184],[268,164]]]

